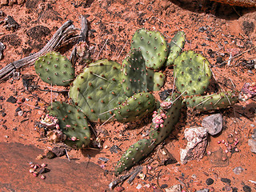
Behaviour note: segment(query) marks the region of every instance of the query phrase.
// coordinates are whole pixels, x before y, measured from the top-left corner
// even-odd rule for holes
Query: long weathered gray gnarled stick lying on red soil
[[[70,41],[77,41],[78,38],[81,38],[81,35],[77,32],[73,25],[72,21],[65,22],[54,34],[54,36],[47,42],[46,46],[39,50],[37,53],[31,54],[26,58],[22,58],[18,61],[11,62],[0,70],[0,82],[8,79],[15,70],[22,68],[23,66],[28,66],[34,63],[38,57],[42,54],[46,54],[50,50],[56,50],[62,44],[65,44]]]

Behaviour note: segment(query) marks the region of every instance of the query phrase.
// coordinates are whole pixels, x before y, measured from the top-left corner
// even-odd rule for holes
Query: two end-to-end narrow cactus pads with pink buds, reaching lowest
[[[174,125],[178,122],[181,113],[182,99],[178,96],[179,94],[174,94],[173,98],[166,98],[166,100],[160,104],[161,107],[153,116],[150,138],[142,139],[126,150],[115,167],[116,174],[121,174],[123,170],[134,166],[137,162],[142,160],[142,158],[150,154],[155,146],[169,136]]]

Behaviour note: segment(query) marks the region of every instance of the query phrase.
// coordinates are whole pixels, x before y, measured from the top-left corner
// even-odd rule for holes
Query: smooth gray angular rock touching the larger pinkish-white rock
[[[202,119],[202,126],[206,128],[210,135],[218,134],[222,131],[222,115],[212,114]]]

